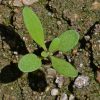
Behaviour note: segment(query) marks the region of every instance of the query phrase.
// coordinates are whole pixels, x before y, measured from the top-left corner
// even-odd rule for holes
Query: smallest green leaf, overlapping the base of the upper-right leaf
[[[59,38],[53,39],[53,41],[51,42],[51,44],[49,46],[49,51],[50,52],[55,52],[55,51],[59,50],[59,43],[60,43]]]

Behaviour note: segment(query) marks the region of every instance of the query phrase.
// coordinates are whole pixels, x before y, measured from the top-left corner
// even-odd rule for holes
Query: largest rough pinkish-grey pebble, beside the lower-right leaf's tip
[[[87,85],[89,85],[89,77],[88,76],[80,75],[76,78],[76,80],[74,82],[74,87],[77,87],[77,88],[82,88]]]

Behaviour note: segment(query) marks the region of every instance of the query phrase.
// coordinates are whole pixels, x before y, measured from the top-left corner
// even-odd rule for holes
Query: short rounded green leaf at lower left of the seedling
[[[26,54],[20,59],[18,67],[22,72],[32,72],[41,67],[41,60],[35,54]]]

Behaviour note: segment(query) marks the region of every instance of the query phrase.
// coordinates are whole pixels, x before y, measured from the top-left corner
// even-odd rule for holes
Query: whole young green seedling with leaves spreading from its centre
[[[31,8],[24,7],[23,19],[32,39],[44,50],[41,53],[41,56],[43,58],[49,58],[51,60],[52,67],[60,74],[68,77],[76,77],[78,74],[77,70],[69,62],[64,59],[57,58],[53,54],[56,51],[66,53],[73,49],[78,43],[79,34],[75,30],[68,30],[62,33],[59,37],[54,38],[49,48],[46,48],[41,22]],[[41,60],[42,59],[37,57],[37,55],[29,53],[20,59],[18,67],[23,72],[32,72],[41,67]]]

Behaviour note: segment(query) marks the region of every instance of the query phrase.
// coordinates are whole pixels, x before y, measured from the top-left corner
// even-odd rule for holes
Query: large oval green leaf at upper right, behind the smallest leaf
[[[59,36],[60,46],[59,50],[67,52],[73,49],[79,40],[79,34],[75,30],[68,30]]]

